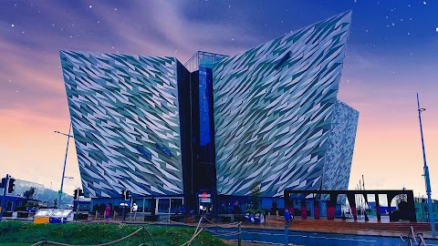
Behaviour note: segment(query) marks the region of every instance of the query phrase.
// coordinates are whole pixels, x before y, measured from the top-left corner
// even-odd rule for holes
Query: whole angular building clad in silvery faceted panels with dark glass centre
[[[346,12],[233,56],[61,50],[85,196],[141,212],[283,206],[347,190],[359,112],[337,98]],[[234,205],[235,206],[235,205]]]

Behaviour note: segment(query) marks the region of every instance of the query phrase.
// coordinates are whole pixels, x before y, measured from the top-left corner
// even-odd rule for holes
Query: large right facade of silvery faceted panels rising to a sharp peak
[[[318,190],[351,13],[214,65],[218,194]]]

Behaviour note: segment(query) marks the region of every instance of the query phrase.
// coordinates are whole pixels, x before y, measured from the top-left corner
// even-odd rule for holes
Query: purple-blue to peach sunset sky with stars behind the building
[[[352,10],[339,99],[360,111],[349,189],[425,194],[416,92],[438,199],[438,1],[2,1],[0,175],[58,190],[68,132],[59,49],[234,55]],[[64,190],[80,186],[70,142]]]

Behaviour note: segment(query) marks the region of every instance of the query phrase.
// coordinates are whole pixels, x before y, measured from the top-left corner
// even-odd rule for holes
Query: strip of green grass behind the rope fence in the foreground
[[[0,241],[4,243],[35,243],[45,239],[75,245],[99,244],[115,241],[130,233],[137,231],[142,226],[120,225],[120,224],[99,224],[99,223],[68,223],[68,224],[32,224],[19,221],[0,222]],[[193,228],[168,227],[158,225],[145,225],[151,232],[153,240],[159,246],[181,245],[189,241]],[[151,238],[146,231],[139,231],[132,237],[111,245],[139,245],[142,242],[153,245]],[[0,244],[21,245],[21,244]],[[201,232],[192,245],[227,245],[207,232]]]

